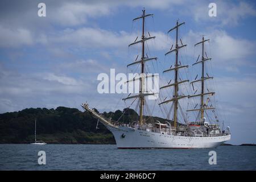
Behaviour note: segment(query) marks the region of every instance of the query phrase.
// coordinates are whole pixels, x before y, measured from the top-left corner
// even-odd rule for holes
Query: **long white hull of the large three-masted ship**
[[[113,133],[118,148],[214,148],[230,140],[230,134],[219,137],[184,137],[124,126],[105,126]]]

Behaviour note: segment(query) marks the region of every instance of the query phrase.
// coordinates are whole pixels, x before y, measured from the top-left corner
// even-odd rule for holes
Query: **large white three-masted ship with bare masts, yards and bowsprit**
[[[104,115],[97,113],[94,111],[94,109],[90,109],[89,105],[87,103],[82,104],[81,106],[88,111],[88,113],[92,114],[94,118],[97,118],[98,121],[100,121],[103,125],[105,125],[114,135],[115,141],[117,142],[117,147],[118,148],[212,148],[212,147],[217,147],[221,143],[224,143],[228,140],[230,140],[230,131],[229,127],[227,128],[228,131],[222,131],[218,125],[210,125],[210,123],[205,121],[204,114],[208,114],[205,110],[207,109],[212,109],[214,112],[214,107],[212,107],[212,104],[208,106],[209,102],[209,97],[207,97],[207,100],[205,100],[206,95],[214,94],[214,92],[210,92],[208,88],[205,87],[205,81],[213,78],[209,77],[208,73],[205,74],[204,70],[204,62],[210,60],[208,58],[207,54],[204,53],[204,43],[207,42],[208,40],[203,40],[195,46],[202,44],[203,46],[203,53],[201,60],[199,60],[199,57],[197,57],[197,61],[195,64],[201,63],[202,65],[202,73],[201,73],[201,78],[199,80],[192,81],[191,85],[194,89],[193,84],[196,82],[201,82],[201,93],[196,94],[196,92],[193,93],[193,95],[188,95],[184,94],[183,90],[181,89],[181,85],[184,82],[189,82],[189,80],[181,80],[181,74],[180,74],[180,69],[181,68],[188,68],[188,65],[183,65],[181,64],[181,61],[179,60],[179,50],[181,48],[184,48],[187,46],[187,44],[183,44],[181,39],[179,39],[178,36],[178,30],[183,23],[179,23],[178,21],[176,22],[176,26],[174,28],[171,28],[168,32],[171,32],[173,30],[176,30],[176,41],[175,41],[175,46],[172,45],[170,51],[166,53],[166,55],[175,53],[175,64],[174,67],[170,67],[169,69],[163,71],[163,73],[166,72],[172,72],[174,71],[174,82],[171,83],[171,81],[168,82],[167,85],[164,85],[160,88],[166,89],[166,88],[172,88],[174,89],[174,92],[172,94],[171,98],[164,98],[164,100],[161,100],[159,105],[162,106],[163,104],[170,104],[172,103],[170,107],[170,113],[171,111],[174,111],[173,115],[173,121],[174,121],[174,126],[171,126],[171,123],[169,121],[164,121],[164,123],[161,123],[160,121],[156,120],[155,123],[147,123],[143,119],[143,109],[146,107],[146,96],[154,95],[156,93],[149,92],[147,90],[147,86],[145,85],[145,82],[147,81],[146,79],[148,76],[145,75],[147,72],[145,70],[145,63],[150,60],[157,60],[156,57],[148,57],[147,53],[145,53],[145,42],[150,39],[154,39],[155,36],[150,36],[148,33],[145,35],[144,34],[144,23],[145,23],[145,18],[148,16],[152,16],[152,14],[145,14],[145,10],[142,10],[142,15],[139,16],[138,18],[135,18],[133,20],[142,20],[142,36],[141,40],[137,40],[138,37],[135,39],[134,43],[131,43],[129,46],[133,46],[135,44],[141,44],[141,59],[138,59],[138,56],[136,60],[128,64],[127,67],[130,67],[131,65],[140,65],[141,66],[141,75],[138,77],[134,77],[133,79],[126,81],[126,82],[134,82],[139,80],[139,93],[137,95],[131,96],[131,93],[129,96],[126,98],[123,98],[123,100],[127,99],[134,99],[131,105],[138,99],[138,105],[139,105],[139,119],[138,121],[131,121],[129,124],[121,123],[121,122],[113,122],[108,118],[105,118]],[[180,44],[179,44],[180,42]],[[172,49],[174,47],[174,49]],[[199,55],[200,56],[200,55]],[[205,57],[206,56],[206,57]],[[143,75],[144,74],[144,75]],[[205,76],[207,75],[207,76]],[[152,76],[153,77],[153,76]],[[208,90],[208,92],[205,92],[205,89]],[[155,92],[155,91],[154,91]],[[170,95],[170,93],[168,93]],[[201,121],[195,122],[186,122],[187,125],[183,126],[177,126],[177,122],[180,121],[180,118],[178,118],[178,107],[179,111],[181,111],[181,114],[183,111],[181,110],[180,102],[179,100],[181,98],[196,98],[200,97],[200,108],[196,109],[196,106],[199,104],[196,104],[196,106],[193,109],[187,110],[187,111],[200,111],[199,114],[201,113]],[[130,106],[131,106],[130,105]],[[138,106],[137,105],[137,106]],[[129,106],[129,107],[130,107]],[[128,107],[128,108],[129,108]],[[165,108],[165,107],[164,107]],[[154,108],[153,108],[154,110]],[[123,112],[123,114],[125,111]],[[123,116],[121,115],[121,117]],[[168,113],[169,114],[169,113]],[[168,119],[168,114],[167,114],[167,119]],[[120,118],[121,118],[120,117]],[[198,115],[199,117],[199,115]],[[217,118],[216,118],[217,119]],[[135,123],[136,122],[136,123]],[[139,125],[138,125],[139,124]],[[223,127],[222,127],[223,128]]]

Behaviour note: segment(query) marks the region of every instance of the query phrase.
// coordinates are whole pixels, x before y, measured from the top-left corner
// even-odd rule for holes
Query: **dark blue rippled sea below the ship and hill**
[[[217,164],[210,165],[209,151]],[[38,152],[46,164],[38,164]],[[117,149],[114,144],[0,144],[1,170],[256,170],[256,147]]]

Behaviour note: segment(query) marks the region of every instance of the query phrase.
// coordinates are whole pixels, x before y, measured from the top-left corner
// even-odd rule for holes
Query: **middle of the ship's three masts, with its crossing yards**
[[[174,71],[175,72],[174,84],[168,84],[168,85],[162,86],[160,88],[160,89],[163,89],[163,88],[167,88],[169,86],[174,86],[174,95],[173,95],[173,97],[170,100],[161,102],[159,105],[166,104],[168,102],[173,102],[173,104],[174,104],[174,128],[175,128],[175,130],[176,130],[176,127],[177,127],[177,109],[178,109],[178,105],[179,105],[179,99],[187,97],[187,96],[180,96],[179,95],[179,93],[178,93],[179,92],[179,84],[189,81],[189,80],[180,80],[179,81],[179,78],[178,78],[179,77],[179,69],[188,67],[188,65],[181,65],[180,61],[178,60],[179,49],[187,46],[187,44],[183,45],[183,43],[181,42],[181,39],[180,39],[181,46],[179,46],[179,43],[178,43],[178,28],[182,24],[185,24],[185,22],[179,24],[179,22],[177,21],[176,26],[174,28],[171,28],[171,30],[168,31],[168,33],[169,33],[172,30],[176,30],[175,49],[172,49],[172,47],[174,46],[174,45],[172,45],[170,51],[165,54],[165,55],[168,55],[171,52],[175,52],[175,67],[167,69],[166,71],[163,71],[163,73],[168,72],[168,71]]]

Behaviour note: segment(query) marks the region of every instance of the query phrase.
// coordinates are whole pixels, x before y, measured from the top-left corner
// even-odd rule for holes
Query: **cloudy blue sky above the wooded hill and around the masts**
[[[46,17],[38,16],[38,4],[46,4]],[[209,3],[217,16],[208,15]],[[167,34],[176,20],[181,61],[197,59],[202,35],[212,57],[216,98],[222,119],[232,131],[229,143],[256,143],[256,6],[254,1],[1,1],[0,2],[0,113],[27,107],[76,107],[85,101],[100,111],[123,109],[122,94],[99,94],[97,76],[134,71],[126,65],[141,51],[128,45],[140,36],[142,14],[146,31],[156,36],[148,41],[150,56],[157,56],[155,72],[171,64],[165,57],[174,43]],[[190,68],[189,68],[190,69]],[[212,71],[212,72],[210,72]],[[196,71],[190,69],[194,79]],[[162,75],[160,73],[159,75]],[[158,114],[155,114],[158,115]],[[159,115],[161,116],[161,115]]]

